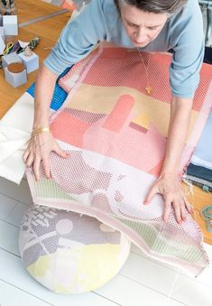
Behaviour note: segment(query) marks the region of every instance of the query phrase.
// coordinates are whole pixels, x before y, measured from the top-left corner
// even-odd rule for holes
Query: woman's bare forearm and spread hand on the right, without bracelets
[[[161,193],[165,205],[163,219],[169,218],[172,205],[179,223],[186,220],[186,209],[190,211],[189,202],[180,186],[179,169],[189,132],[191,108],[192,99],[172,97],[169,133],[161,175],[144,202],[148,204],[156,193]]]

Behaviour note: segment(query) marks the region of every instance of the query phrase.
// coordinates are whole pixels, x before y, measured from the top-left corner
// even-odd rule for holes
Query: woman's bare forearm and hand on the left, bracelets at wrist
[[[50,104],[56,80],[56,74],[44,65],[41,66],[35,83],[33,129],[49,127]],[[51,151],[58,153],[61,157],[68,156],[60,149],[51,133],[42,132],[35,134],[30,139],[28,147],[23,153],[23,161],[26,166],[32,166],[37,181],[40,179],[41,161],[46,177],[51,177],[49,162]]]

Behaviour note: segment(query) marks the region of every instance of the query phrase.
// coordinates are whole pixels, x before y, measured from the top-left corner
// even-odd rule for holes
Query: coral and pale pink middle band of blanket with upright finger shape
[[[133,106],[134,98],[124,95],[108,116],[100,117],[93,124],[82,121],[65,109],[51,124],[51,131],[64,143],[152,172],[163,160],[166,139],[153,125],[149,130],[132,128]]]

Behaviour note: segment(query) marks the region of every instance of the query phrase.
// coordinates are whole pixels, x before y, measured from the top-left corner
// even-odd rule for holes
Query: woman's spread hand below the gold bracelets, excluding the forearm
[[[69,154],[60,149],[51,133],[42,132],[35,134],[29,141],[27,149],[23,153],[23,162],[27,167],[32,166],[35,180],[40,180],[40,164],[42,162],[43,170],[47,179],[51,178],[50,154],[54,151],[63,158],[69,157]]]

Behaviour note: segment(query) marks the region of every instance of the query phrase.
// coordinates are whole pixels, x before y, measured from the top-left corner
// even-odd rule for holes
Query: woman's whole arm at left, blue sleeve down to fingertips
[[[35,86],[33,128],[49,126],[51,97],[58,75],[67,67],[76,64],[78,60],[85,58],[98,41],[109,37],[106,12],[105,1],[92,1],[61,32],[59,42],[43,61],[44,65],[38,73]],[[31,139],[23,153],[23,161],[27,166],[32,166],[36,180],[39,180],[41,161],[46,177],[51,177],[49,163],[51,151],[55,151],[61,157],[69,156],[61,151],[51,133],[43,132],[36,134]]]

